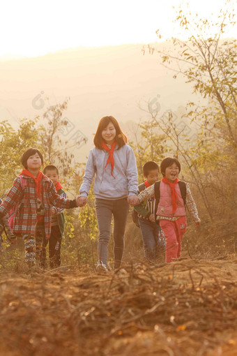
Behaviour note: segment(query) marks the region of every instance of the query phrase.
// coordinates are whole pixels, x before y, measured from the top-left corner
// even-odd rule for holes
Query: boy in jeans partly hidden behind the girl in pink
[[[138,194],[144,189],[152,186],[158,181],[159,166],[153,161],[148,161],[143,166],[144,183],[139,184]],[[144,255],[147,260],[155,260],[161,257],[165,252],[165,238],[162,235],[159,223],[155,222],[155,201],[154,198],[148,198],[134,207],[132,212],[133,221],[141,228],[144,244]]]

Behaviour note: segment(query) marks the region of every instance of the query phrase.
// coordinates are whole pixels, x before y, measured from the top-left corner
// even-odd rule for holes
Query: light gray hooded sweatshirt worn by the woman
[[[109,146],[108,146],[109,147]],[[110,147],[109,147],[110,148]],[[87,197],[95,176],[94,194],[95,198],[117,200],[128,196],[137,195],[137,165],[135,154],[128,144],[114,149],[114,170],[111,174],[111,165],[105,165],[109,152],[94,147],[89,152],[86,163],[83,183],[79,193]]]

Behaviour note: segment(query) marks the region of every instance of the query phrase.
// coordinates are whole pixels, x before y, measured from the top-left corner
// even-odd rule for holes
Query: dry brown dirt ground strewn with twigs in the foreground
[[[237,356],[237,259],[0,274],[0,355]]]

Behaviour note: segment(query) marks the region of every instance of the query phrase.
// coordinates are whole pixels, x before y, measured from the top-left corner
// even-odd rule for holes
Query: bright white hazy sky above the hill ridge
[[[0,7],[0,57],[38,56],[70,47],[149,43],[155,31],[176,36],[172,23],[180,0],[8,0]],[[202,16],[224,0],[191,0]],[[234,29],[227,36],[235,36]]]

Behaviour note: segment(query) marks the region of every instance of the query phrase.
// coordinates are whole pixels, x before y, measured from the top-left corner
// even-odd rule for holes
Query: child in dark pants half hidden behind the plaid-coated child
[[[62,197],[67,198],[63,187],[59,183],[59,170],[55,165],[47,165],[43,174],[46,175],[49,179],[52,180],[56,192]],[[65,218],[63,215],[63,208],[53,207],[51,208],[52,212],[52,221],[51,221],[51,234],[49,240],[44,239],[43,249],[42,249],[42,265],[45,267],[46,264],[46,247],[49,242],[49,266],[50,268],[56,268],[61,265],[61,241],[63,238]]]

